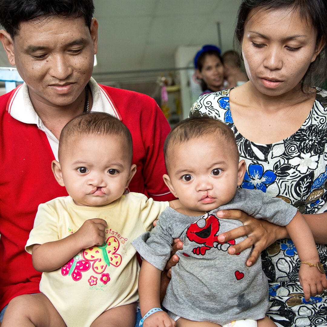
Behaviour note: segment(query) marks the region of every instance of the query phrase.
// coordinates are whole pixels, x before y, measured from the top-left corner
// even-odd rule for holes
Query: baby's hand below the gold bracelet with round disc
[[[313,264],[313,262],[310,263]],[[314,265],[317,265],[317,262]],[[326,275],[321,273],[317,267],[310,267],[308,264],[301,264],[299,281],[306,301],[310,300],[310,296],[321,294],[324,289],[327,289]]]

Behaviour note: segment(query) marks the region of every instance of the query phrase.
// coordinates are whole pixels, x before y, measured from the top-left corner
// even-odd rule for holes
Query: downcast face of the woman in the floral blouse
[[[282,95],[299,86],[320,52],[311,23],[291,9],[252,9],[242,40],[251,83],[265,95]]]

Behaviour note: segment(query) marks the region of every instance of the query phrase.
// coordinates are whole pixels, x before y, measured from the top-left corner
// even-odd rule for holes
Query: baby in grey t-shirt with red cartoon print
[[[241,209],[285,225],[301,258],[299,280],[305,299],[327,288],[312,233],[301,213],[262,191],[237,188],[246,165],[239,162],[234,134],[227,125],[212,118],[185,119],[169,133],[164,156],[168,172],[164,181],[181,206],[166,208],[156,227],[132,242],[144,258],[139,277],[144,326],[175,326],[175,321],[178,327],[275,326],[265,316],[268,285],[261,262],[246,266],[250,250],[228,254],[230,245],[244,238],[227,243],[217,239],[242,223],[218,219],[218,210]],[[168,315],[160,309],[159,285],[174,238],[184,245],[176,252],[179,262],[172,267],[163,300]]]

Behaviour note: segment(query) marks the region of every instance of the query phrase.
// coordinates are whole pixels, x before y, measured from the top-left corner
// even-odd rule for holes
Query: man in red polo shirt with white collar
[[[51,172],[63,126],[82,112],[119,118],[133,138],[137,172],[129,190],[172,200],[163,142],[170,127],[155,101],[91,77],[98,22],[92,0],[2,0],[0,40],[25,81],[0,97],[0,311],[39,292],[25,244],[40,203],[66,196]],[[4,310],[2,310],[3,314]]]

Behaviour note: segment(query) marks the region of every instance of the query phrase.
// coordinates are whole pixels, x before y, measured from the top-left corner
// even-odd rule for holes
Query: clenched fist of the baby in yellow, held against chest
[[[85,220],[75,235],[81,249],[87,249],[94,245],[102,245],[106,241],[105,229],[107,222],[100,218]]]

